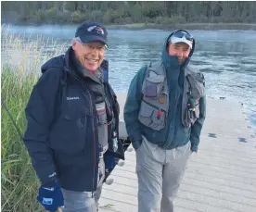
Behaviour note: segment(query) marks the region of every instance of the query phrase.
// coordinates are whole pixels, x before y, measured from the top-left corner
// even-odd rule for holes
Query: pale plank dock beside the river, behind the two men
[[[121,110],[125,99],[118,94]],[[104,184],[99,212],[137,212],[134,151],[125,157],[109,177],[113,184]],[[256,139],[241,103],[207,98],[198,153],[190,157],[174,206],[175,212],[256,212]]]

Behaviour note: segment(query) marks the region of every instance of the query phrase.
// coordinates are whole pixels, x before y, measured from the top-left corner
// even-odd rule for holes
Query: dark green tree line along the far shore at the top
[[[72,24],[84,20],[104,24],[255,23],[255,1],[3,2],[2,23]]]

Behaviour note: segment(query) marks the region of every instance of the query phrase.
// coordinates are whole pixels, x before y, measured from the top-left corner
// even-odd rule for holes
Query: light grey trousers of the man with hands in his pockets
[[[136,150],[138,212],[173,212],[191,143],[165,150],[143,138]]]

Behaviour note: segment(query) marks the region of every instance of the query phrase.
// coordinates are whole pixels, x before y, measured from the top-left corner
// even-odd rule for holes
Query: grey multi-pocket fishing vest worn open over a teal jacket
[[[162,130],[167,124],[170,99],[166,69],[161,62],[147,66],[142,94],[139,121],[152,130]],[[185,128],[190,128],[199,118],[199,99],[204,94],[203,74],[186,68],[181,117]]]

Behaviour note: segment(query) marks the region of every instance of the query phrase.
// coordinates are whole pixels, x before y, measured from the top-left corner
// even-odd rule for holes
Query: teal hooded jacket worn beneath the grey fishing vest
[[[200,131],[205,119],[205,96],[199,99],[199,118],[192,127],[186,128],[181,118],[185,69],[188,66],[190,57],[193,55],[195,42],[193,43],[189,57],[180,65],[178,57],[169,56],[166,51],[166,46],[171,35],[172,33],[165,40],[160,57],[160,63],[166,70],[169,89],[169,109],[165,128],[160,131],[155,131],[141,124],[138,120],[143,98],[142,85],[145,80],[147,66],[140,69],[131,82],[124,106],[124,121],[128,136],[131,138],[134,148],[140,146],[142,143],[142,135],[144,135],[149,142],[156,143],[164,149],[173,149],[190,141],[191,150],[197,152]]]

